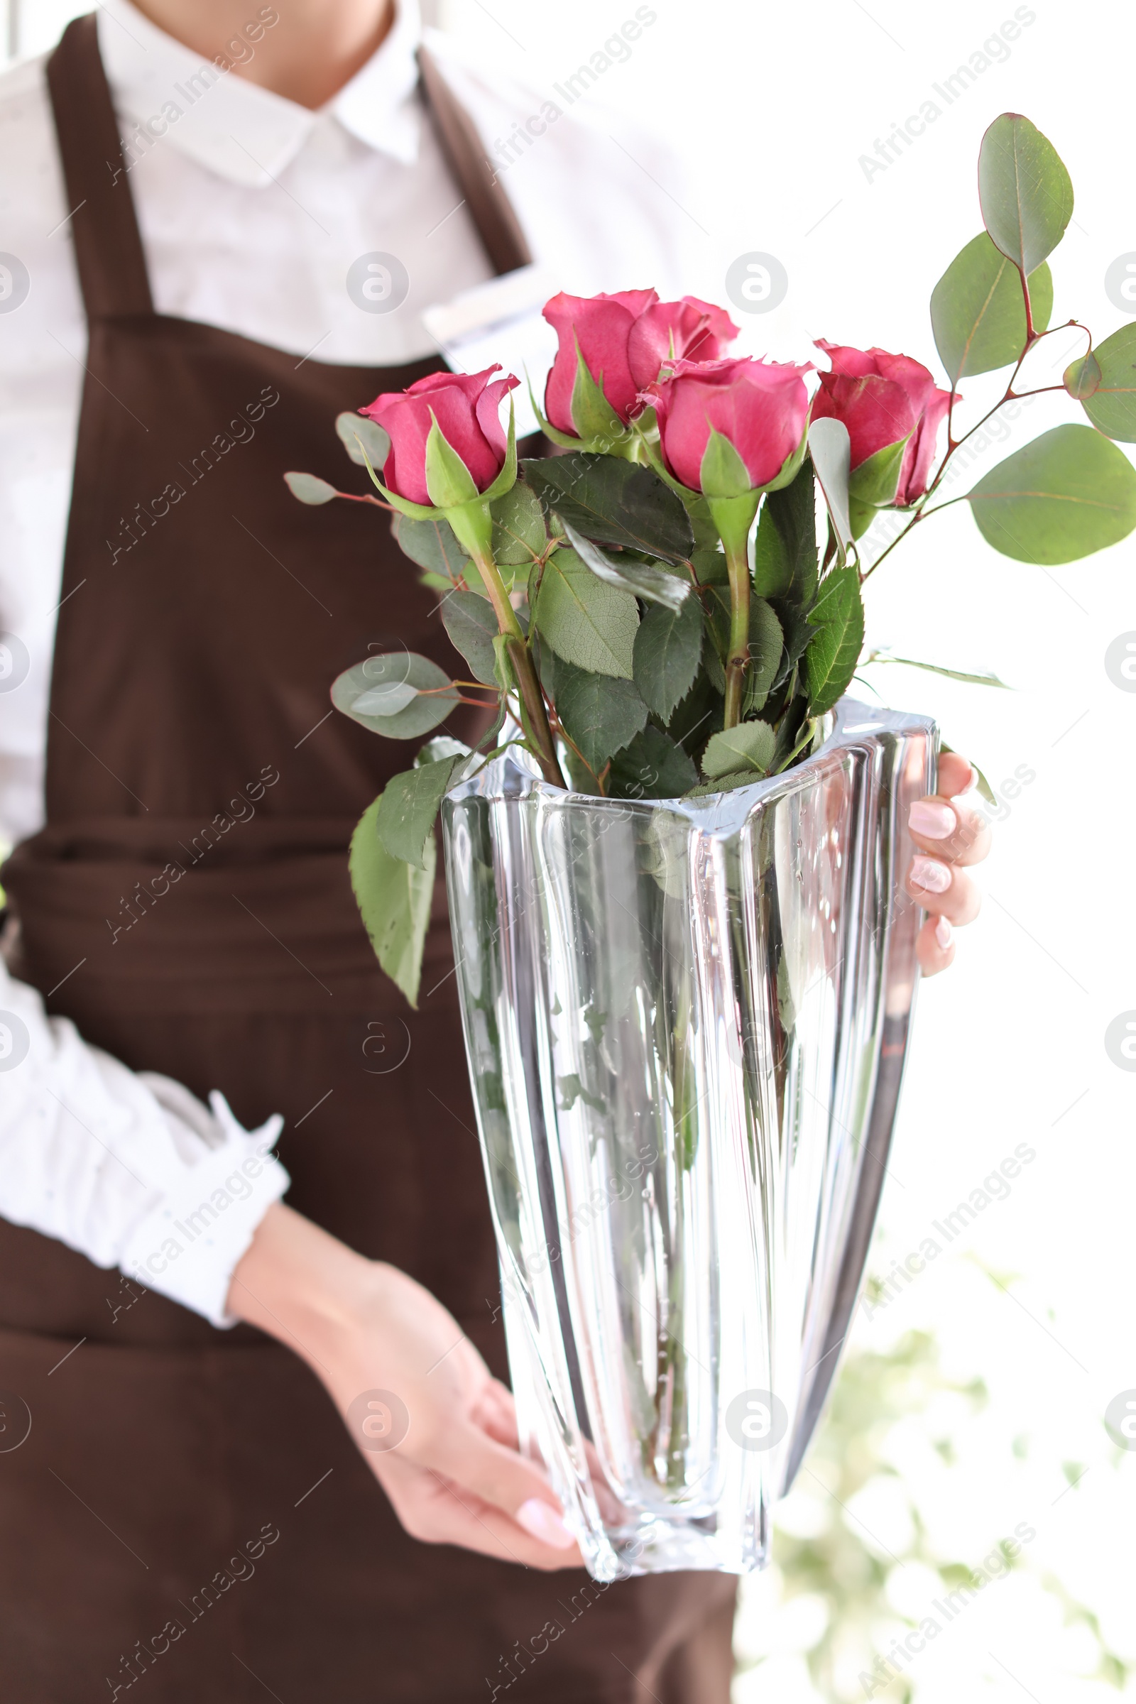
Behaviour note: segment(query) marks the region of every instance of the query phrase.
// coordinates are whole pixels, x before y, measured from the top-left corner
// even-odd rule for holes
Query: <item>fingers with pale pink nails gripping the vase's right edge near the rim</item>
[[[957,751],[938,760],[938,792],[911,806],[911,837],[920,849],[908,869],[908,893],[930,917],[916,941],[920,968],[935,976],[954,961],[954,930],[978,917],[981,896],[967,864],[990,852],[990,826],[959,804],[959,794],[976,782],[971,763]]]

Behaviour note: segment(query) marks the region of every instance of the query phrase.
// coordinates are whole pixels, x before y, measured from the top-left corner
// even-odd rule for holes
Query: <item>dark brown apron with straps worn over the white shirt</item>
[[[424,82],[492,262],[521,264],[468,119]],[[281,1111],[290,1201],[427,1285],[504,1377],[445,905],[410,1012],[347,884],[351,828],[409,748],[327,699],[368,648],[456,658],[383,520],[301,508],[281,481],[349,484],[336,414],[439,363],[327,366],[157,315],[129,179],[107,169],[94,17],[49,85],[90,353],[48,826],[3,874],[17,973],[135,1070],[220,1087],[247,1126]],[[417,1544],[324,1389],[261,1333],[7,1223],[0,1298],[5,1697],[727,1699],[731,1580],[603,1588]]]

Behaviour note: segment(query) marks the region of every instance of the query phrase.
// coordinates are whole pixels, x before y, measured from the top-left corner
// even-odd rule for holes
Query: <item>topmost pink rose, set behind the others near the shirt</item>
[[[697,296],[659,302],[654,290],[620,290],[611,296],[565,296],[545,303],[545,319],[560,346],[545,387],[545,414],[564,433],[581,436],[572,421],[576,343],[584,366],[622,421],[642,406],[640,392],[676,358],[715,361],[737,336],[724,308]]]

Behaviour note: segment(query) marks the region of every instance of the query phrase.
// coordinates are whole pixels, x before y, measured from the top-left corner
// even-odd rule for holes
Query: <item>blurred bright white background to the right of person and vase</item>
[[[43,51],[78,10],[24,0],[9,44]],[[656,20],[596,94],[666,130],[686,162],[686,179],[666,187],[695,245],[693,293],[726,302],[726,271],[746,252],[785,268],[789,288],[775,310],[734,315],[744,320],[744,349],[804,360],[814,336],[881,344],[923,360],[942,380],[927,302],[981,228],[978,147],[1007,109],[1034,119],[1073,177],[1073,223],[1051,256],[1054,320],[1075,315],[1099,341],[1124,322],[1105,273],[1121,256],[1136,259],[1129,9],[1104,0],[1075,9],[870,0],[870,10],[858,0],[777,9],[652,0],[649,10]],[[439,22],[502,75],[550,90],[634,15],[632,0],[443,0]],[[1017,22],[1017,39],[984,48],[1005,22]],[[957,78],[947,102],[945,78],[978,65],[976,55],[990,63],[967,87]],[[869,176],[862,157],[928,101],[940,111],[925,135]],[[1136,315],[1136,302],[1127,314]],[[1081,348],[1073,332],[1049,339],[1034,382],[1054,383]],[[964,421],[996,389],[996,375],[964,382]],[[1076,417],[1064,397],[1029,404],[1008,445],[979,450],[978,470]],[[964,489],[959,482],[950,494]],[[1136,538],[1068,567],[1029,567],[990,550],[959,504],[870,581],[869,625],[899,654],[991,668],[1015,688],[870,670],[884,700],[933,712],[950,745],[981,763],[1001,794],[1003,821],[981,871],[983,917],[959,939],[950,975],[920,995],[870,1271],[884,1276],[927,1237],[942,1254],[870,1319],[862,1309],[850,1353],[887,1353],[904,1333],[932,1333],[944,1377],[981,1379],[990,1401],[976,1408],[942,1396],[904,1419],[884,1413],[865,1435],[879,1465],[846,1511],[831,1503],[824,1462],[802,1474],[785,1508],[787,1535],[809,1539],[838,1520],[881,1564],[879,1602],[862,1624],[843,1627],[840,1580],[821,1590],[782,1559],[746,1593],[739,1651],[744,1663],[758,1661],[739,1677],[737,1697],[863,1697],[858,1673],[925,1615],[942,1631],[904,1658],[904,1677],[872,1695],[1088,1704],[1116,1695],[1116,1685],[1136,1695],[1136,1675],[1126,1682],[1124,1667],[1100,1663],[1102,1646],[1121,1665],[1136,1663],[1136,1452],[1119,1450],[1102,1419],[1114,1396],[1136,1389],[1136,1075],[1109,1058],[1104,1041],[1112,1019],[1136,1009],[1126,898],[1136,683],[1122,688],[1105,673],[1109,644],[1136,630]],[[1018,1143],[1036,1159],[1005,1200],[947,1244],[933,1222]],[[930,1609],[942,1578],[911,1559],[913,1546],[978,1568],[1018,1525],[1036,1532],[1020,1566],[945,1624]],[[835,1668],[814,1684],[807,1653],[816,1655],[826,1619]]]

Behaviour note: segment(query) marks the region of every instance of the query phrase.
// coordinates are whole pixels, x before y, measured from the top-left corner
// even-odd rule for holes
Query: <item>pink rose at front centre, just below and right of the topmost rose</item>
[[[809,417],[804,373],[778,361],[676,361],[644,397],[659,419],[663,460],[680,484],[702,491],[710,428],[729,438],[753,489],[768,486],[799,446]],[[724,496],[724,492],[709,492]]]

